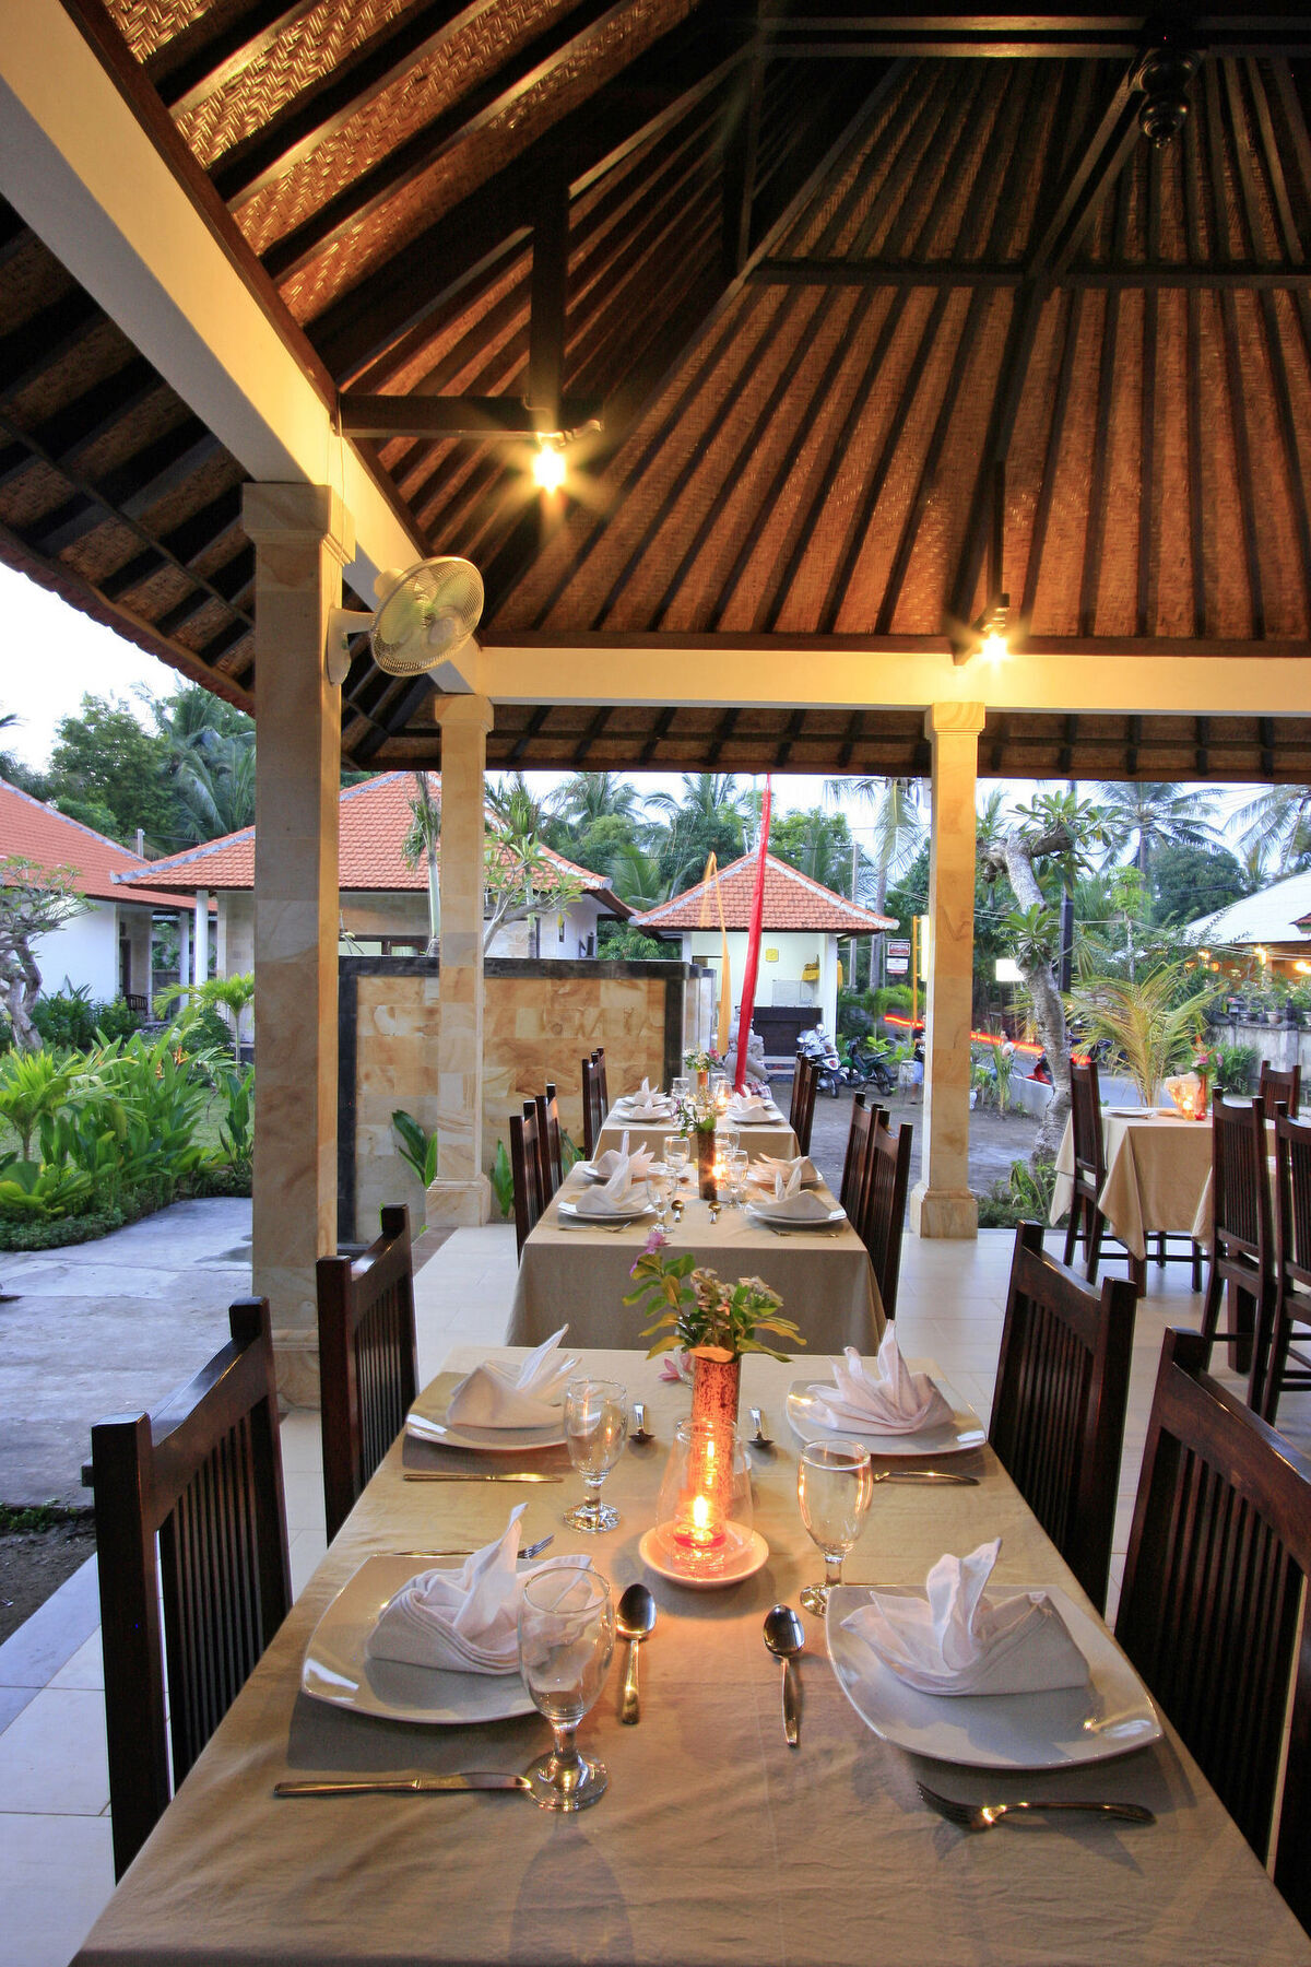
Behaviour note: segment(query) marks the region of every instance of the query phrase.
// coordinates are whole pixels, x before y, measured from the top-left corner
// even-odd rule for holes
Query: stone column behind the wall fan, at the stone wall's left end
[[[491,1184],[482,1168],[485,696],[438,696],[442,728],[442,940],[436,1041],[436,1168],[428,1227],[485,1223]]]

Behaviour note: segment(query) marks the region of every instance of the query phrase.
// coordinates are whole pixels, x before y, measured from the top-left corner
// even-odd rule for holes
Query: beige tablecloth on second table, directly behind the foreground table
[[[570,1345],[641,1343],[645,1320],[623,1304],[623,1294],[633,1288],[629,1269],[655,1216],[619,1231],[566,1227],[558,1204],[586,1192],[584,1176],[572,1174],[523,1245],[509,1316],[511,1345],[539,1345],[562,1324],[570,1328]],[[800,1326],[810,1351],[879,1349],[884,1326],[879,1284],[851,1223],[776,1235],[737,1208],[723,1208],[712,1223],[694,1182],[684,1184],[684,1194],[692,1200],[682,1223],[668,1227],[672,1255],[694,1249],[719,1277],[763,1277],[782,1298],[784,1316]],[[818,1194],[833,1204],[827,1188]]]

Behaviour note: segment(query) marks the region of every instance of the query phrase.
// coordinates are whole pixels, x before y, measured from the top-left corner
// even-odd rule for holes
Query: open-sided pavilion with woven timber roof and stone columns
[[[1305,10],[1232,0],[6,10],[0,553],[256,714],[291,1391],[342,757],[442,773],[444,1222],[485,1210],[487,763],[930,777],[910,1214],[975,1233],[979,775],[1311,781],[1309,102]],[[330,683],[328,610],[427,555],[478,641]]]

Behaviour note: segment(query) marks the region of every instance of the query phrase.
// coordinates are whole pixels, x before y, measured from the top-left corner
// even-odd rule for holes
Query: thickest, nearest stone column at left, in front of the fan
[[[336,1249],[340,690],[324,671],[354,527],[328,486],[250,484],[256,547],[254,1288],[279,1393],[318,1404],[314,1259]]]

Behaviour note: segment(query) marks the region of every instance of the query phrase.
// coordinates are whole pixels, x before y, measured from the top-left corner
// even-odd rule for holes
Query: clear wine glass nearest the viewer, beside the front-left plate
[[[605,1794],[605,1764],[580,1755],[574,1733],[605,1686],[613,1650],[615,1609],[598,1572],[546,1564],[525,1580],[519,1672],[554,1735],[554,1747],[527,1770],[542,1810],[588,1810]]]

